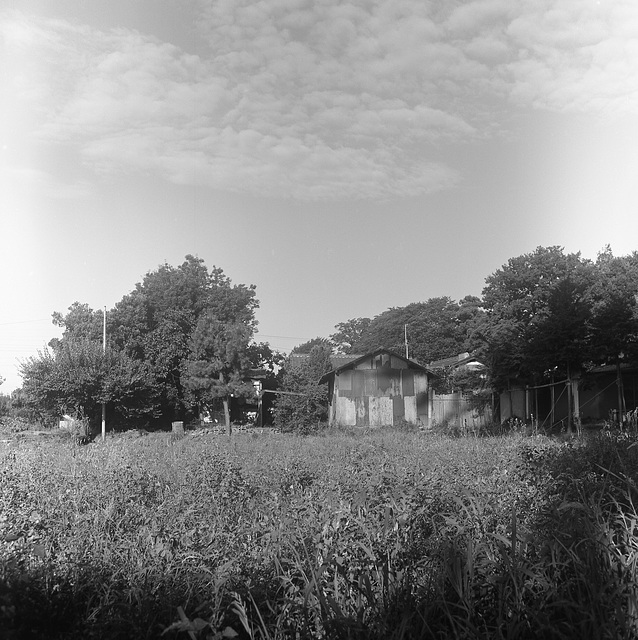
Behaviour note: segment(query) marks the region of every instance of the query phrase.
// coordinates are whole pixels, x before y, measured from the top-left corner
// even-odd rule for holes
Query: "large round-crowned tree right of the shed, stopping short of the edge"
[[[497,388],[569,375],[587,361],[594,277],[590,261],[554,246],[511,258],[486,278],[474,336]]]

